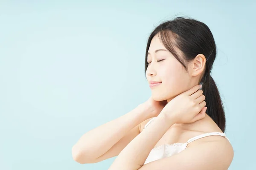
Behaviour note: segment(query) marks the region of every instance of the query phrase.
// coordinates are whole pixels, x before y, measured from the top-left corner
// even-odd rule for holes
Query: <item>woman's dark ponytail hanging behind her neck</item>
[[[224,107],[218,88],[214,80],[212,79],[210,72],[208,72],[202,83],[202,90],[205,96],[205,102],[207,107],[206,112],[224,133],[226,130]]]

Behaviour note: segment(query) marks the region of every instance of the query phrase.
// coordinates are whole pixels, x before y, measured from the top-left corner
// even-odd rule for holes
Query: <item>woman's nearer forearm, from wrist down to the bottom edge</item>
[[[165,114],[159,114],[148,127],[134,138],[115,159],[109,170],[138,170],[143,166],[150,151],[166,131],[174,125]]]

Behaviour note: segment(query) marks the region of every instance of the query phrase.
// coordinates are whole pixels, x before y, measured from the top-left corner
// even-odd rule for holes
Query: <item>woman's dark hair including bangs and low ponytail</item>
[[[186,63],[195,59],[198,54],[206,57],[206,68],[200,83],[206,97],[207,114],[224,132],[226,126],[225,112],[218,88],[210,75],[212,64],[216,57],[216,45],[212,32],[208,26],[198,20],[184,17],[176,17],[161,23],[151,32],[145,54],[145,74],[148,68],[147,53],[151,40],[155,35],[159,36],[163,45],[187,70]],[[179,49],[183,55],[179,56],[175,49]]]

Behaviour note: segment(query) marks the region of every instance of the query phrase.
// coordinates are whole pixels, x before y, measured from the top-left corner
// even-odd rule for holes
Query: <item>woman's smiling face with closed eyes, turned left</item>
[[[155,52],[156,50],[157,52]],[[149,85],[150,81],[161,82],[150,87],[154,100],[167,100],[169,102],[175,96],[191,87],[192,77],[186,72],[183,65],[164,47],[158,35],[151,40],[147,61],[149,65],[146,70],[146,77]]]

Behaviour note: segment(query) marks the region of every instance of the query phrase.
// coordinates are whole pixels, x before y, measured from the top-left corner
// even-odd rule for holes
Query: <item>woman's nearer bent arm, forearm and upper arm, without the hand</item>
[[[226,140],[190,144],[182,152],[144,164],[154,145],[174,124],[158,116],[131,141],[108,170],[227,170],[233,160],[233,148]],[[159,126],[161,125],[161,126]]]

